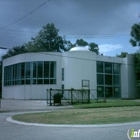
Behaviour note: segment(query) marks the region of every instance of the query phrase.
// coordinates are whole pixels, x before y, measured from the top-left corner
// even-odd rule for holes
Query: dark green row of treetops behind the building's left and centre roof
[[[22,46],[15,46],[8,50],[2,56],[2,59],[27,52],[64,52],[70,50],[74,46],[89,46],[90,51],[99,54],[98,45],[95,43],[88,43],[83,39],[77,39],[75,44],[66,40],[65,36],[59,35],[59,29],[53,23],[43,26],[39,33],[31,38],[31,41]]]

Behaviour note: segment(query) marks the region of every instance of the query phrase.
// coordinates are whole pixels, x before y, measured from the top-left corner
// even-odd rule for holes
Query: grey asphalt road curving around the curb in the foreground
[[[140,124],[104,127],[48,127],[25,126],[6,121],[8,117],[17,113],[18,111],[0,113],[0,140],[128,140],[128,129],[140,129]]]

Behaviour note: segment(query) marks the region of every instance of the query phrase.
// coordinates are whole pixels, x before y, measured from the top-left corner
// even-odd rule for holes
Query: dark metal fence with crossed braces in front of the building
[[[63,95],[61,101],[63,104],[91,103],[95,101],[106,101],[104,93],[98,93],[94,89],[47,89],[47,104],[50,106],[54,103],[54,95]]]

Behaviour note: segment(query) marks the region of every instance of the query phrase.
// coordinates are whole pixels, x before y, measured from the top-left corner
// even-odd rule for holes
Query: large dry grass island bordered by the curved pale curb
[[[69,109],[46,113],[15,115],[22,122],[43,124],[110,124],[140,121],[140,106]]]

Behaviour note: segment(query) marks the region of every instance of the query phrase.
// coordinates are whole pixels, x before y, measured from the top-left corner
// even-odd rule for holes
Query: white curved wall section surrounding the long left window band
[[[49,88],[61,88],[61,53],[26,53],[3,60],[4,66],[33,61],[56,61],[56,84],[54,85],[14,85],[4,86],[2,84],[2,98],[9,99],[46,99],[46,90]],[[4,75],[4,73],[3,73]]]

